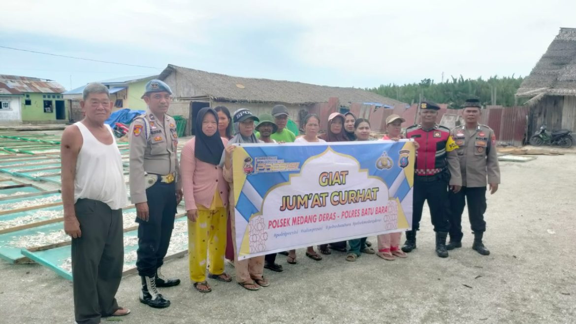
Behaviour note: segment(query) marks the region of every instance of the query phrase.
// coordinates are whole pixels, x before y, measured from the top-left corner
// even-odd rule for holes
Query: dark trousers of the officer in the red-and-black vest
[[[428,202],[430,218],[434,232],[448,232],[448,171],[434,176],[414,176],[414,194],[412,195],[412,231],[420,229],[422,208]]]

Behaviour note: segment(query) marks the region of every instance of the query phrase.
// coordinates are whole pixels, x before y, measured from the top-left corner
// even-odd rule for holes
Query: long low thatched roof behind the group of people
[[[172,73],[176,73],[176,78],[166,80]],[[340,104],[344,106],[348,106],[349,103],[363,102],[382,103],[389,106],[403,104],[400,101],[358,88],[233,77],[175,65],[168,65],[158,78],[166,80],[171,87],[179,89],[175,93],[177,97],[199,97],[202,95],[215,101],[302,105],[323,103],[327,102],[330,97],[338,97]],[[170,84],[172,82],[180,84]],[[186,83],[187,86],[183,86],[182,83]],[[175,91],[175,88],[172,90]]]

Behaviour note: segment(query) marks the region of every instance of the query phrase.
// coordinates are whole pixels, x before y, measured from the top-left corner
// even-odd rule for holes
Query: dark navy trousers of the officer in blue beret
[[[176,216],[176,183],[158,180],[146,189],[148,221],[136,218],[138,225],[138,250],[136,267],[140,276],[153,277],[164,264],[168,252],[174,218]]]

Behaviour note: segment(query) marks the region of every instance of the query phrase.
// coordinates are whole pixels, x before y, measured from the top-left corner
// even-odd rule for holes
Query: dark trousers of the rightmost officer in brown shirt
[[[460,242],[462,239],[462,213],[468,205],[470,227],[475,233],[486,231],[486,187],[462,187],[458,193],[450,192],[450,239]]]

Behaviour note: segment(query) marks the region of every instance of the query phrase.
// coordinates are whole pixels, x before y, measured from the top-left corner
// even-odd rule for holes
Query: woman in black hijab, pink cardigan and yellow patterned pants
[[[218,133],[218,113],[212,108],[198,112],[197,134],[180,155],[184,203],[188,216],[188,266],[190,280],[199,292],[210,292],[206,282],[206,254],[210,258],[208,277],[222,282],[232,278],[224,272],[228,184],[218,165],[228,140]]]

